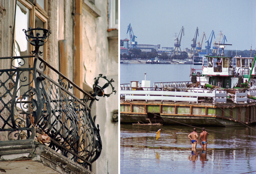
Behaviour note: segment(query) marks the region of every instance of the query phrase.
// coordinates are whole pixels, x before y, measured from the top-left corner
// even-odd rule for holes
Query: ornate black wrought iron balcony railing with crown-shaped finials
[[[33,37],[34,30],[25,33],[30,33],[33,43],[43,45],[37,41],[38,34]],[[48,30],[42,30],[48,37]],[[113,80],[100,74],[95,78],[94,91],[86,93],[40,58],[39,46],[34,46],[33,56],[0,58],[1,63],[10,60],[7,66],[11,66],[0,70],[0,140],[35,138],[91,170],[102,149],[91,107],[98,100],[96,96],[115,92]],[[106,83],[101,87],[102,79]],[[112,88],[110,94],[104,93],[106,87]],[[83,99],[73,95],[74,90],[80,91]]]

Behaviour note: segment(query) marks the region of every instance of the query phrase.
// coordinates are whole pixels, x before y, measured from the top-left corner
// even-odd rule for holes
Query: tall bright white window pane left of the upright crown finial
[[[17,1],[15,16],[15,54],[26,56],[29,55],[29,42],[26,40],[23,29],[29,27],[29,9]],[[17,45],[17,46],[16,46]],[[17,55],[17,56],[18,56]]]

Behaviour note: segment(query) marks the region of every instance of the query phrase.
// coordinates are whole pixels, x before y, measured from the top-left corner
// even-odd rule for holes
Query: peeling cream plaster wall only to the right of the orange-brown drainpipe
[[[85,1],[85,0],[84,0]],[[95,7],[100,16],[95,18],[89,11],[83,10],[83,63],[84,73],[89,85],[90,79],[98,74],[114,79],[113,86],[118,90],[118,32],[115,37],[109,37],[108,29],[108,1],[95,1]],[[109,93],[111,91],[105,91]],[[118,122],[112,121],[114,110],[118,110],[118,94],[100,98],[96,102],[96,124],[100,126],[102,152],[95,162],[95,173],[118,173]]]

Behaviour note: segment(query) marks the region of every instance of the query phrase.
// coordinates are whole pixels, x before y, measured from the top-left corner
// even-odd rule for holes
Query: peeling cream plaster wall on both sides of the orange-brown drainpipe
[[[48,29],[52,30],[48,43],[47,60],[58,67],[58,40],[67,41],[68,50],[68,78],[73,81],[73,2],[48,1]],[[88,10],[89,5],[92,10]],[[83,81],[91,88],[94,78],[99,74],[114,79],[113,86],[118,90],[118,32],[115,37],[109,37],[108,29],[108,1],[95,1],[95,5],[83,0],[82,12],[82,54]],[[98,14],[95,15],[95,12]],[[55,27],[58,26],[58,27]],[[108,93],[109,91],[105,91]],[[108,98],[101,97],[95,102],[92,115],[97,115],[96,125],[100,126],[102,152],[93,164],[94,173],[118,173],[118,123],[112,121],[114,110],[118,110],[118,94]]]

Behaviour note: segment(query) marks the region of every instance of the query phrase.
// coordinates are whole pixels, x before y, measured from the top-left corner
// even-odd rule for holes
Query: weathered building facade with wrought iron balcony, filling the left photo
[[[118,173],[118,1],[0,0],[0,33],[0,169]]]

